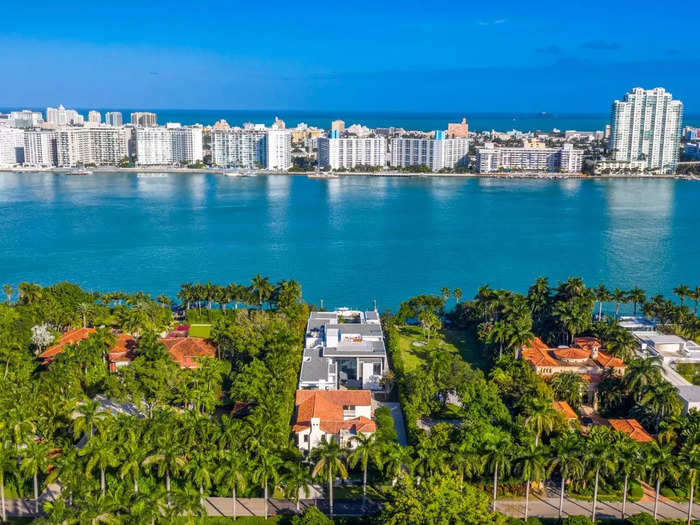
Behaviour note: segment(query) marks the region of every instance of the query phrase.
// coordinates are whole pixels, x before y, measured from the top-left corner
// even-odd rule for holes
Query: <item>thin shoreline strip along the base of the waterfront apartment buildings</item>
[[[52,173],[56,175],[71,175],[77,168],[0,168],[0,173]],[[118,166],[101,166],[85,168],[93,173],[173,173],[188,174],[201,173],[211,175],[223,175],[227,169],[221,168],[181,168],[174,166],[143,166],[134,168],[121,168]],[[393,178],[464,178],[464,179],[679,179],[679,180],[700,180],[697,176],[691,175],[640,175],[640,174],[606,174],[606,175],[586,175],[583,173],[405,173],[400,171],[381,172],[331,172],[330,176],[324,176],[315,171],[274,171],[274,170],[254,170],[255,175],[287,175],[309,177],[319,180],[332,180],[343,177],[393,177]],[[329,173],[329,172],[325,172]],[[241,175],[240,178],[250,176]],[[238,177],[231,177],[238,178]]]

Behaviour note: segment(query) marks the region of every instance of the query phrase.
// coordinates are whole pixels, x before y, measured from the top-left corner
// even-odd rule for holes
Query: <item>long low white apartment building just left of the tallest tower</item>
[[[583,150],[572,144],[561,148],[499,148],[488,143],[476,155],[479,173],[498,171],[547,171],[578,173],[583,166]]]

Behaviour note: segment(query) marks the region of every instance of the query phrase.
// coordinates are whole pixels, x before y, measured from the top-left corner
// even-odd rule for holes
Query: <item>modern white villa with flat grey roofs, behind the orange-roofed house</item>
[[[299,374],[300,390],[381,389],[388,370],[376,311],[311,312]]]

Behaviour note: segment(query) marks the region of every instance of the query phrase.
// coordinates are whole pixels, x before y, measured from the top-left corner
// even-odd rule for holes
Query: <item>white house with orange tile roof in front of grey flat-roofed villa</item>
[[[372,393],[369,390],[297,390],[294,434],[299,449],[310,452],[322,439],[353,447],[354,436],[373,434]]]

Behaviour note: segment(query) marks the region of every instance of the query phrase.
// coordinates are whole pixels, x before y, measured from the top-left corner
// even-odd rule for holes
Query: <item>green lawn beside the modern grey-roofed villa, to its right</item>
[[[459,353],[462,359],[475,368],[486,370],[488,367],[481,345],[467,331],[443,330],[427,342],[419,326],[402,326],[399,328],[399,336],[399,349],[407,372],[416,369],[429,351],[439,346],[449,352]],[[419,345],[414,345],[415,342]]]

